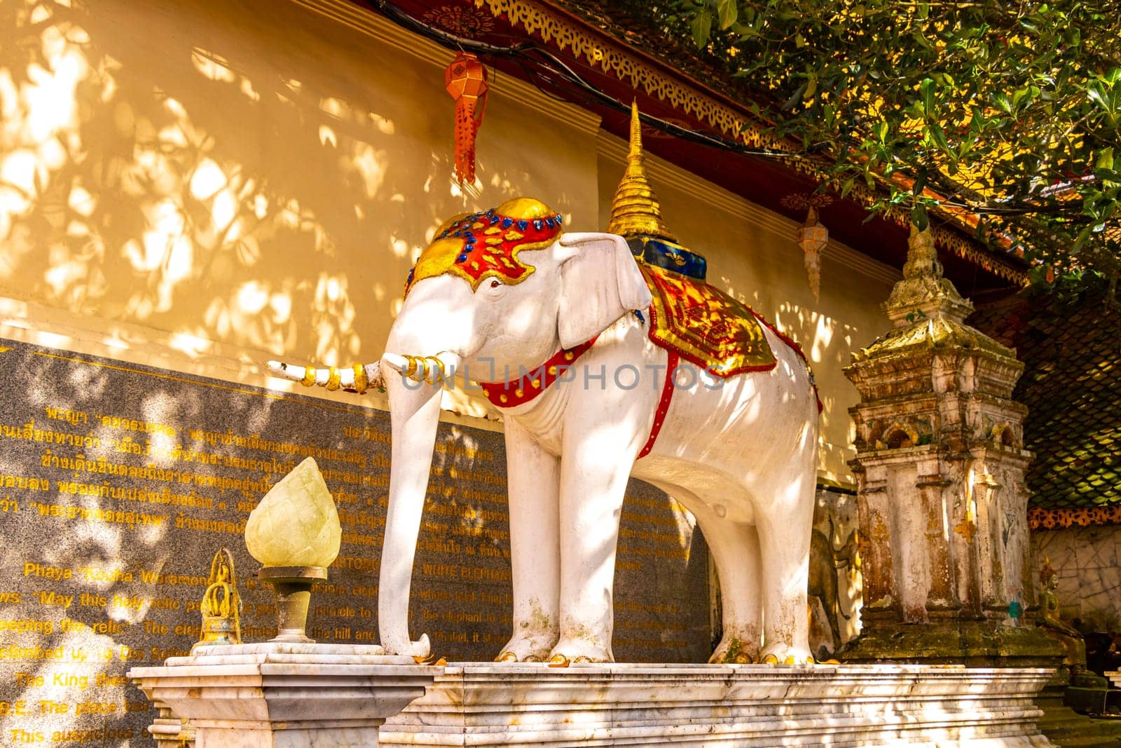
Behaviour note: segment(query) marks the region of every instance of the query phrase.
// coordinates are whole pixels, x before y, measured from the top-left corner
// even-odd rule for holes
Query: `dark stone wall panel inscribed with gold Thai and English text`
[[[387,414],[3,340],[0,371],[0,745],[151,745],[154,713],[124,672],[187,653],[222,546],[237,560],[245,640],[274,636],[242,532],[307,455],[343,526],[309,634],[377,640]],[[509,636],[504,472],[500,434],[442,427],[410,629],[448,661],[491,659]],[[632,482],[617,658],[704,662],[706,580],[692,517]]]

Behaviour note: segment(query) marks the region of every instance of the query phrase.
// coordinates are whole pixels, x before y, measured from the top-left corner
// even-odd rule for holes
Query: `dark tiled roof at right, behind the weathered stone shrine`
[[[1121,523],[1121,311],[1100,290],[1022,292],[970,323],[1017,349],[1032,526]]]

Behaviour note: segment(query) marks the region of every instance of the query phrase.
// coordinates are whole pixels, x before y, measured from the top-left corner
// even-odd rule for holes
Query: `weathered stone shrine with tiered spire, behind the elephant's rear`
[[[914,232],[892,327],[853,355],[861,637],[850,662],[1058,664],[1060,647],[1020,618],[1028,572],[1026,408],[1016,352],[964,323],[973,306]]]

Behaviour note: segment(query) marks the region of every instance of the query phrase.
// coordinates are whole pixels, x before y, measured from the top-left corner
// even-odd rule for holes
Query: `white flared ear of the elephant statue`
[[[631,310],[650,306],[650,289],[622,237],[566,233],[558,244],[563,348],[580,345]]]

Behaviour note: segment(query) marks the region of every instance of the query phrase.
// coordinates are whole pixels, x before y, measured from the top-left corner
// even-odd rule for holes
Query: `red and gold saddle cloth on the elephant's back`
[[[756,313],[704,280],[639,264],[654,303],[650,340],[725,378],[775,368]]]

